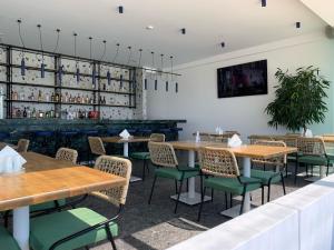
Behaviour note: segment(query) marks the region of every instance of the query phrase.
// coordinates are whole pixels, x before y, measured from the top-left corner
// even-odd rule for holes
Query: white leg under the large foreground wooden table
[[[13,210],[13,238],[22,250],[29,250],[29,206]]]

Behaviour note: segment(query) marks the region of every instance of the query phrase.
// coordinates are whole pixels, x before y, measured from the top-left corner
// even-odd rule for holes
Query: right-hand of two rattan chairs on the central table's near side
[[[207,188],[242,196],[240,214],[243,213],[245,193],[262,188],[262,180],[240,176],[235,154],[229,149],[210,147],[199,149],[199,164],[202,202],[198,210],[198,221]]]

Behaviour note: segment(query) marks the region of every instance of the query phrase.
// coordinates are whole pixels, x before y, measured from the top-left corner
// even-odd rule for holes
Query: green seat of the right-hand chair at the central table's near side
[[[246,187],[247,192],[256,190],[262,186],[261,180],[255,178],[240,177],[240,180],[252,182]],[[237,178],[209,177],[204,179],[203,183],[204,187],[230,192],[238,196],[242,194],[244,190],[244,184],[242,184]]]

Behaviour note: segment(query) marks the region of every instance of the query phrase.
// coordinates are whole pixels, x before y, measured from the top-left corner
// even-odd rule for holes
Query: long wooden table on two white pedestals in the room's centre
[[[195,167],[195,152],[198,151],[202,147],[214,147],[214,148],[227,148],[226,143],[219,142],[195,142],[195,141],[170,141],[169,142],[174,149],[186,150],[188,151],[188,166],[190,168]],[[252,158],[264,158],[269,159],[273,157],[278,157],[282,154],[287,154],[292,152],[296,152],[297,148],[289,147],[268,147],[268,146],[257,146],[257,144],[244,144],[238,148],[228,148],[232,150],[236,157],[243,159],[243,174],[245,177],[250,177],[250,159]],[[180,197],[183,198],[180,201],[187,204],[196,204],[200,202],[200,194],[195,192],[195,178],[189,180],[188,192],[183,193]],[[207,200],[207,198],[206,198]],[[238,207],[234,207],[224,211],[225,216],[235,217],[238,214]],[[245,204],[244,211],[250,210],[250,199],[249,193],[247,192],[245,196]]]

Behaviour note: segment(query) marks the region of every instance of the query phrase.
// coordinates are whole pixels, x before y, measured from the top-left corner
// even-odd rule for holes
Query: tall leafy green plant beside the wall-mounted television
[[[293,131],[302,128],[305,133],[307,126],[324,122],[330,81],[320,76],[318,68],[298,68],[294,74],[278,69],[275,77],[275,99],[265,109],[271,127],[283,126]]]

